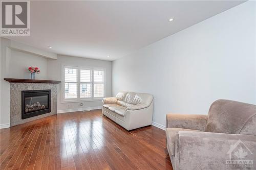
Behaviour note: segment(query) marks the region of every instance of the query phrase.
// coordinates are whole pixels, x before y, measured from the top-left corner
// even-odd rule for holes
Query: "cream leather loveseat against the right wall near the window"
[[[102,100],[102,114],[126,130],[152,124],[154,98],[152,94],[119,92],[115,98]]]

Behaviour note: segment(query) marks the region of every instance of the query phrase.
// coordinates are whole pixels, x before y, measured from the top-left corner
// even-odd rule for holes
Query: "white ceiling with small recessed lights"
[[[241,3],[31,1],[31,35],[7,38],[57,54],[115,60]]]

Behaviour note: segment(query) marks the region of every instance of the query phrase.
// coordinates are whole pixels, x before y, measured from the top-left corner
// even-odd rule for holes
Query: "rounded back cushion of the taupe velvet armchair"
[[[256,115],[255,105],[217,100],[210,106],[205,132],[240,134],[248,120],[254,115]],[[249,127],[251,132],[255,131],[255,125]]]

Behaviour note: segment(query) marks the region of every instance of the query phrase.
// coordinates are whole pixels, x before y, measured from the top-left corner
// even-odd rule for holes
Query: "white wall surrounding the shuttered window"
[[[112,62],[104,60],[94,60],[88,58],[71,57],[58,55],[58,60],[47,60],[48,79],[50,80],[61,80],[61,65],[67,66],[80,66],[80,67],[101,67],[105,68],[106,76],[106,96],[112,95]],[[83,106],[80,106],[83,103]],[[101,108],[101,100],[91,102],[75,102],[75,103],[61,103],[61,85],[58,86],[58,113],[68,111],[78,111],[87,109]]]

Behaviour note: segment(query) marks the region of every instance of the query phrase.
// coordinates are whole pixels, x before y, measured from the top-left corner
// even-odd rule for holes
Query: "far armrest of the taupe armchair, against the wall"
[[[166,128],[204,131],[208,116],[203,114],[166,114]]]

